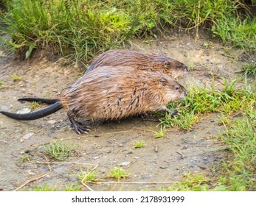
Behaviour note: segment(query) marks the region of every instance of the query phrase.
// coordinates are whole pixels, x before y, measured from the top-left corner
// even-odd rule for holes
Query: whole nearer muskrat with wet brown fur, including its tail
[[[138,74],[132,67],[103,66],[80,77],[49,107],[27,114],[0,113],[29,121],[49,116],[64,107],[75,132],[81,134],[88,133],[89,127],[75,118],[120,119],[156,110],[171,113],[165,105],[185,96],[184,87],[162,71]]]

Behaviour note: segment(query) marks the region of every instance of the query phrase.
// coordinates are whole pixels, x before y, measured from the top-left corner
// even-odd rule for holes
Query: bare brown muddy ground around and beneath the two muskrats
[[[195,41],[193,36],[176,34],[170,38],[134,40],[131,49],[166,54],[186,63],[190,72],[180,79],[186,88],[192,85],[212,85],[222,88],[224,79],[235,79],[241,71],[246,54],[239,49],[224,46],[208,35]],[[13,55],[1,52],[0,80],[6,85],[0,89],[0,108],[16,112],[29,108],[30,104],[17,101],[23,96],[51,97],[75,82],[80,71],[66,60],[52,62],[39,55],[30,60],[14,60]],[[13,80],[13,75],[21,80]],[[201,123],[188,131],[167,129],[164,138],[154,138],[159,131],[157,117],[128,118],[91,124],[89,135],[76,135],[69,127],[64,110],[36,121],[15,121],[0,115],[0,191],[13,191],[28,180],[38,178],[19,190],[31,190],[36,185],[48,185],[63,190],[65,185],[77,183],[73,174],[94,168],[102,184],[89,184],[94,191],[141,191],[156,190],[171,182],[181,180],[184,172],[215,175],[211,168],[226,158],[223,145],[216,136],[223,131],[218,124],[218,114],[201,117]],[[29,135],[27,135],[29,134]],[[75,145],[75,152],[64,163],[46,161],[41,143],[65,140]],[[134,149],[136,141],[145,141],[143,148]],[[21,157],[30,155],[30,162]],[[111,168],[127,163],[130,174],[121,183],[106,178]],[[112,183],[108,183],[112,182]],[[129,184],[130,182],[131,184]],[[154,184],[153,184],[154,183]],[[78,183],[80,184],[80,183]],[[88,188],[83,187],[86,191]]]

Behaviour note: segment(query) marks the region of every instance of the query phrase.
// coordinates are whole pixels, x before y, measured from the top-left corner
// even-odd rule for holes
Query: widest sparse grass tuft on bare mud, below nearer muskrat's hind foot
[[[69,142],[51,142],[49,145],[44,146],[46,149],[46,154],[49,154],[51,158],[59,161],[66,160],[72,155],[73,146]]]

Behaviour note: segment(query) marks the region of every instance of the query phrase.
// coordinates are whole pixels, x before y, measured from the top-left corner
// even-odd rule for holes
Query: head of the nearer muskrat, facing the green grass
[[[165,102],[176,102],[187,96],[187,90],[174,79],[161,78],[159,81],[159,90],[162,90]]]

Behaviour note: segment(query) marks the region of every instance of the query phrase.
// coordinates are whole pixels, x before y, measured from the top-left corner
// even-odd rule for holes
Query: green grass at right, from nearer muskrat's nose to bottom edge
[[[185,174],[183,180],[160,188],[165,191],[255,191],[256,190],[256,93],[254,88],[236,88],[235,81],[223,90],[194,88],[178,107],[181,115],[166,116],[165,127],[193,127],[194,121],[184,122],[187,116],[197,121],[205,113],[219,113],[219,123],[225,129],[218,138],[225,143],[229,157],[215,168],[214,177]],[[186,123],[186,124],[185,124]]]

